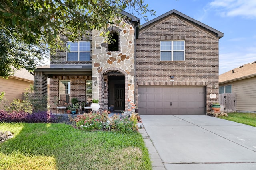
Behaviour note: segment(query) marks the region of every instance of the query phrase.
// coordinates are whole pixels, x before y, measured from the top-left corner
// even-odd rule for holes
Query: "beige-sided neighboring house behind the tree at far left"
[[[12,102],[13,99],[22,99],[22,95],[30,84],[33,85],[34,76],[26,69],[18,70],[8,79],[0,78],[0,92],[4,91],[4,98]],[[4,108],[4,102],[1,102],[0,109]]]

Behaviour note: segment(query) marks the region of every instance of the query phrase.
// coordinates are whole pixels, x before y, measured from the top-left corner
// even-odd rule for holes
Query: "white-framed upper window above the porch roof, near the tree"
[[[67,48],[67,61],[90,61],[90,41],[68,41]]]

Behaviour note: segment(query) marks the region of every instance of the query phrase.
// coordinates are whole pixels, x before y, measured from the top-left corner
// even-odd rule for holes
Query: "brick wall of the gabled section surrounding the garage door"
[[[185,40],[185,61],[160,61],[161,40]],[[214,33],[174,14],[140,29],[136,39],[136,101],[138,86],[206,86],[206,109],[210,111],[212,102],[218,102],[218,41]]]

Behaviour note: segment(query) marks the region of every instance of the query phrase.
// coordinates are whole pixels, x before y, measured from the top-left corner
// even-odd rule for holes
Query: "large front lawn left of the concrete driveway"
[[[59,123],[0,123],[14,138],[0,143],[0,169],[149,170],[140,133],[86,132]]]

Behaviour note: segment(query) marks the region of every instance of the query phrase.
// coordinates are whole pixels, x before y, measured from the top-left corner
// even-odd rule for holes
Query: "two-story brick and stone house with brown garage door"
[[[56,51],[50,68],[34,72],[37,96],[46,93],[50,77],[54,102],[99,98],[100,109],[128,110],[135,103],[140,114],[206,114],[218,101],[219,39],[223,33],[176,10],[139,26],[140,20],[122,12],[122,23],[109,25],[116,42],[104,43],[96,30],[88,31],[70,51]],[[44,103],[43,103],[44,104]]]

